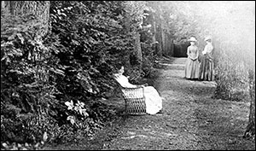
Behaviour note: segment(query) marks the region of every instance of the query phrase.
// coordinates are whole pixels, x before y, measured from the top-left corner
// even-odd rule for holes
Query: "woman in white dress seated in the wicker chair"
[[[114,78],[125,88],[137,88],[137,85],[130,84],[127,77],[123,75],[124,67],[119,69],[119,73],[114,74]],[[162,112],[162,97],[153,86],[144,86],[144,96],[146,103],[146,113],[155,114]]]

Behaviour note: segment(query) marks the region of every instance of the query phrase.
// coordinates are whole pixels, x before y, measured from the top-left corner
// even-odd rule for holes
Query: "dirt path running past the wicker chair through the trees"
[[[81,142],[84,145],[74,146],[102,150],[254,150],[255,141],[241,137],[247,125],[249,103],[212,99],[215,84],[187,80],[181,68],[159,69],[160,77],[148,81],[166,98],[165,113],[120,118],[87,145]]]

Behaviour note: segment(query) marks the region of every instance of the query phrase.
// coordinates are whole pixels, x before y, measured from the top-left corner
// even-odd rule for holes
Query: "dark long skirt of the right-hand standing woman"
[[[201,63],[199,68],[199,79],[205,81],[214,80],[213,61],[210,61],[207,55],[201,56]]]

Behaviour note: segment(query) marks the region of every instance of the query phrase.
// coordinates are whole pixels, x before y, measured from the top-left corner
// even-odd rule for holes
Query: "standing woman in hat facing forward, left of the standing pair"
[[[190,38],[190,45],[187,49],[188,59],[185,64],[185,78],[188,79],[198,79],[199,78],[199,51],[195,42],[195,38]]]

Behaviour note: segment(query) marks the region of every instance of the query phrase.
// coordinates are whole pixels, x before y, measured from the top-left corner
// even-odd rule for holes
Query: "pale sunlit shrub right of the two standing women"
[[[225,49],[218,55],[215,67],[217,88],[214,97],[232,101],[246,101],[248,96],[248,70],[246,61],[237,50]]]

